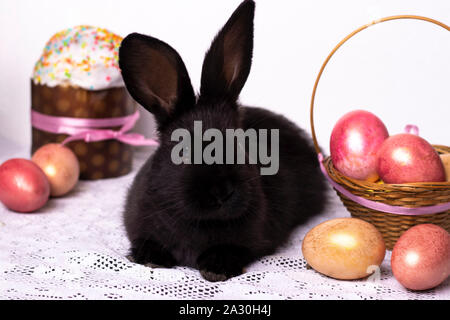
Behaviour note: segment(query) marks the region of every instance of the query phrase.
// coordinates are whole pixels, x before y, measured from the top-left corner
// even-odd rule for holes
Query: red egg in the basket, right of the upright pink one
[[[425,139],[410,133],[397,134],[383,142],[377,172],[385,183],[445,181],[439,154]]]

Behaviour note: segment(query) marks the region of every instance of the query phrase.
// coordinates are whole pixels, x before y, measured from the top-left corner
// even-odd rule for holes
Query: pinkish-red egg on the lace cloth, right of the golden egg
[[[411,290],[438,286],[450,274],[450,234],[434,224],[420,224],[398,239],[391,257],[395,278]]]

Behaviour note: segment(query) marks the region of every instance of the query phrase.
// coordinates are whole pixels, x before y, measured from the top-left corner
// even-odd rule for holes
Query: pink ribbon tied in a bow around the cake
[[[109,139],[116,139],[134,146],[159,145],[156,140],[146,139],[141,134],[127,133],[134,127],[138,119],[138,110],[129,116],[104,119],[55,117],[31,110],[31,124],[34,128],[46,132],[69,135],[61,143],[63,145],[74,140],[95,142]],[[118,131],[99,129],[118,126],[121,126]]]

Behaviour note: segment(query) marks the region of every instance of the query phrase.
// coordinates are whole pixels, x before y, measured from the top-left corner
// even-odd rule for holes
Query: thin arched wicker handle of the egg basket
[[[312,133],[314,147],[316,149],[317,154],[320,154],[320,148],[319,148],[319,144],[317,142],[316,131],[314,130],[314,101],[315,101],[315,97],[316,97],[317,86],[319,85],[320,77],[322,76],[322,73],[323,73],[326,65],[330,61],[331,57],[336,53],[336,51],[345,42],[347,42],[347,40],[352,38],[357,33],[361,32],[364,29],[367,29],[370,26],[378,24],[378,23],[391,21],[391,20],[400,20],[400,19],[414,19],[414,20],[427,21],[427,22],[430,22],[430,23],[434,23],[435,25],[438,25],[438,26],[440,26],[440,27],[442,27],[444,29],[447,29],[447,31],[450,31],[450,27],[449,26],[447,26],[446,24],[444,24],[444,23],[442,23],[440,21],[437,21],[437,20],[434,20],[434,19],[431,19],[431,18],[422,17],[422,16],[414,16],[414,15],[397,15],[397,16],[390,16],[390,17],[385,17],[385,18],[381,18],[381,19],[372,21],[371,23],[368,23],[366,25],[363,25],[363,26],[359,27],[358,29],[354,30],[352,33],[347,35],[344,39],[342,39],[341,42],[339,42],[334,47],[334,49],[330,52],[328,57],[325,59],[325,62],[322,64],[322,67],[320,68],[319,74],[317,75],[316,82],[314,83],[314,88],[313,88],[313,92],[312,92],[312,96],[311,96],[311,109],[310,109],[311,133]]]

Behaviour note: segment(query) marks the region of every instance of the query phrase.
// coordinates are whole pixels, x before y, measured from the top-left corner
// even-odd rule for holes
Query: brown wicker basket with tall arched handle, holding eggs
[[[317,138],[314,130],[314,100],[316,95],[317,86],[320,80],[320,77],[325,69],[325,66],[334,55],[334,53],[351,37],[360,31],[374,25],[377,23],[390,21],[390,20],[398,20],[398,19],[416,19],[434,23],[438,26],[441,26],[448,31],[450,31],[450,27],[447,25],[421,16],[410,16],[410,15],[401,15],[401,16],[392,16],[386,17],[380,20],[373,21],[367,25],[364,25],[352,33],[350,33],[347,37],[345,37],[328,55],[327,59],[323,63],[319,74],[316,78],[316,82],[314,84],[314,89],[311,97],[311,110],[310,110],[310,121],[311,121],[311,131],[312,137],[314,140],[314,144],[316,147],[317,153],[320,155],[319,159],[322,161],[320,154],[320,148],[317,143]],[[434,146],[436,151],[440,154],[450,153],[450,147],[446,146]],[[405,214],[404,212],[399,213],[389,213],[389,210],[379,211],[375,209],[371,209],[369,207],[385,206],[385,207],[395,207],[404,209],[403,211],[408,211],[405,208],[424,208],[433,207],[434,211],[436,211],[436,206],[441,207],[441,204],[444,204],[444,207],[447,207],[447,204],[450,202],[450,183],[449,182],[439,182],[439,183],[409,183],[409,184],[379,184],[379,183],[370,183],[366,181],[359,181],[355,179],[351,179],[349,177],[344,176],[339,171],[337,171],[332,162],[331,158],[327,157],[322,161],[322,168],[328,175],[328,179],[335,186],[335,190],[342,200],[343,204],[347,208],[347,210],[351,213],[352,217],[360,218],[367,222],[372,223],[383,235],[383,238],[386,243],[386,248],[392,250],[397,239],[402,235],[403,232],[408,230],[414,225],[422,224],[422,223],[433,223],[436,224],[447,231],[450,232],[450,209],[444,209],[441,212],[428,213],[426,214]],[[341,190],[338,191],[337,189]],[[349,197],[345,196],[343,193],[348,193]],[[355,196],[360,197],[355,200]],[[362,201],[360,201],[362,199]],[[356,202],[357,201],[357,202]],[[360,204],[364,203],[364,205]],[[382,205],[378,205],[378,204]],[[368,205],[375,204],[375,205]],[[423,209],[421,209],[423,210]],[[394,210],[396,211],[396,210]],[[432,211],[432,210],[430,210]]]

